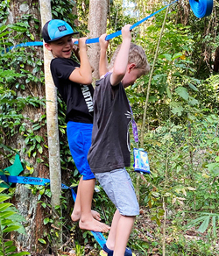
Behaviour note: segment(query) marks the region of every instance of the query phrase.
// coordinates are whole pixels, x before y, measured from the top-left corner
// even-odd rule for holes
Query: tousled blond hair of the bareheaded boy
[[[109,69],[113,68],[115,60],[117,58],[117,53],[120,50],[121,45],[117,46],[116,51],[113,53],[113,56],[109,63]],[[145,51],[142,46],[137,46],[136,44],[131,43],[130,51],[129,51],[129,59],[128,64],[135,63],[138,69],[144,71],[144,74],[148,74],[150,71],[150,65],[147,61],[147,57]]]

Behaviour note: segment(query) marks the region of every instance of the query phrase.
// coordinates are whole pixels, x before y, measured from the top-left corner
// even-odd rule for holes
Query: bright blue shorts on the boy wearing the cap
[[[95,179],[88,164],[87,155],[91,146],[93,124],[67,122],[67,140],[74,164],[83,180]]]

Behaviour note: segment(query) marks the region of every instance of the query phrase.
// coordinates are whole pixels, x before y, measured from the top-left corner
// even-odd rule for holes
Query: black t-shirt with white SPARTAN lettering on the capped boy
[[[53,59],[50,65],[53,82],[67,104],[66,120],[92,124],[94,88],[92,84],[83,85],[69,80],[75,67],[80,65],[72,59]]]

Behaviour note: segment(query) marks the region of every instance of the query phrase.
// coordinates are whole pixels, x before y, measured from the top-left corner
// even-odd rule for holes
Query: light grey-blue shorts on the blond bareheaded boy
[[[137,216],[139,205],[131,177],[125,168],[95,174],[112,203],[123,216]]]

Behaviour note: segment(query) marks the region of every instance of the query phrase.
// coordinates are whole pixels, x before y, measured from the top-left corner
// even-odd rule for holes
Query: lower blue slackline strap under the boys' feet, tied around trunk
[[[8,175],[0,175],[0,179],[5,181],[6,183],[19,183],[19,184],[30,184],[30,185],[42,185],[45,186],[47,183],[50,183],[49,179],[44,178],[36,178],[36,177],[25,177],[25,176],[8,176]],[[71,187],[67,187],[65,184],[61,184],[61,188],[64,189],[71,189],[72,196],[74,202],[76,200],[76,193],[74,189]],[[101,232],[91,231],[92,235],[94,236],[95,240],[101,247],[106,244],[106,238],[103,237]]]

